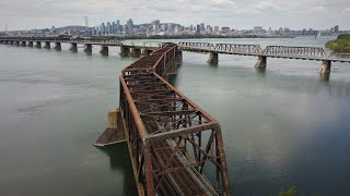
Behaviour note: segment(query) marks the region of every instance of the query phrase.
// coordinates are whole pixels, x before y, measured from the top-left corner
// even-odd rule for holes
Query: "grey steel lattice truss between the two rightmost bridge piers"
[[[323,48],[317,47],[293,47],[293,46],[268,46],[264,54],[269,56],[289,56],[289,57],[312,57],[326,58],[327,54]]]

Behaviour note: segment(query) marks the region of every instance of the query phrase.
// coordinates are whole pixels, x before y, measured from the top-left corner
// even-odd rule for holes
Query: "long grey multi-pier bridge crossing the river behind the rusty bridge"
[[[44,42],[44,47],[42,46]],[[0,37],[0,44],[15,45],[23,47],[37,47],[49,49],[50,44],[55,44],[54,48],[60,50],[61,42],[70,44],[70,50],[78,51],[78,45],[84,46],[85,52],[92,52],[93,46],[101,46],[101,53],[108,53],[108,47],[120,47],[121,56],[140,57],[148,56],[159,47],[137,46],[126,44],[118,39],[98,40],[98,39],[70,39],[59,37],[23,37],[23,36],[3,36]],[[34,45],[35,44],[35,45]],[[259,45],[236,45],[236,44],[213,44],[213,42],[178,42],[179,51],[209,53],[208,63],[217,64],[219,62],[219,53],[253,56],[258,57],[255,68],[265,70],[267,66],[267,58],[282,58],[295,60],[322,61],[319,73],[329,75],[331,62],[350,63],[350,53],[327,53],[320,47],[298,47],[298,46],[267,46],[262,49]],[[179,58],[182,53],[178,53]]]

